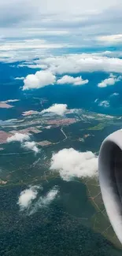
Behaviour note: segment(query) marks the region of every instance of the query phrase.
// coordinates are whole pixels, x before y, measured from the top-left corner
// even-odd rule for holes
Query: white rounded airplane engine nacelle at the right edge
[[[98,173],[105,210],[122,243],[122,130],[113,132],[103,141]]]

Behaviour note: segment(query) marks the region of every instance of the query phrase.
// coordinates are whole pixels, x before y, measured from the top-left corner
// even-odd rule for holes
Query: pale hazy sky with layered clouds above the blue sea
[[[0,58],[19,61],[65,49],[122,43],[121,0],[6,0],[0,2]]]

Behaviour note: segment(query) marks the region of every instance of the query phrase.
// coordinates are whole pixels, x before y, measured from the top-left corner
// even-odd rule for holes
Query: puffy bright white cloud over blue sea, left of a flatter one
[[[24,79],[24,90],[38,89],[49,84],[54,84],[56,77],[50,71],[37,71],[35,75],[28,75]]]

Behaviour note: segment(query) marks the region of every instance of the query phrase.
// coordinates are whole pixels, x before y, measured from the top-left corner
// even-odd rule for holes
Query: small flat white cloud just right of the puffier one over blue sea
[[[57,80],[57,84],[72,83],[73,85],[83,85],[88,83],[88,80],[83,80],[81,76],[63,76],[61,79]]]

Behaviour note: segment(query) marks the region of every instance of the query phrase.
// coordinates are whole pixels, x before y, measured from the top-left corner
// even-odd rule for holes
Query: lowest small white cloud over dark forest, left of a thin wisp
[[[33,186],[24,191],[21,191],[17,204],[20,206],[20,210],[28,209],[31,206],[31,202],[38,195],[38,187]]]

